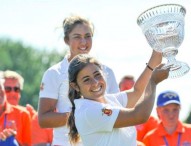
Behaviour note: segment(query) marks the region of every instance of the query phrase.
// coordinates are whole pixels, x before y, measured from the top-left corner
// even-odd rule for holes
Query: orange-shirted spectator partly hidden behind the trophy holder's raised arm
[[[124,91],[124,90],[130,90],[133,88],[135,84],[135,78],[132,75],[125,75],[119,82],[119,88],[120,91]],[[137,130],[137,140],[139,142],[143,141],[143,137],[145,136],[145,134],[156,128],[158,124],[158,119],[150,116],[148,121],[144,124],[140,124],[140,125],[136,125],[136,130]]]

